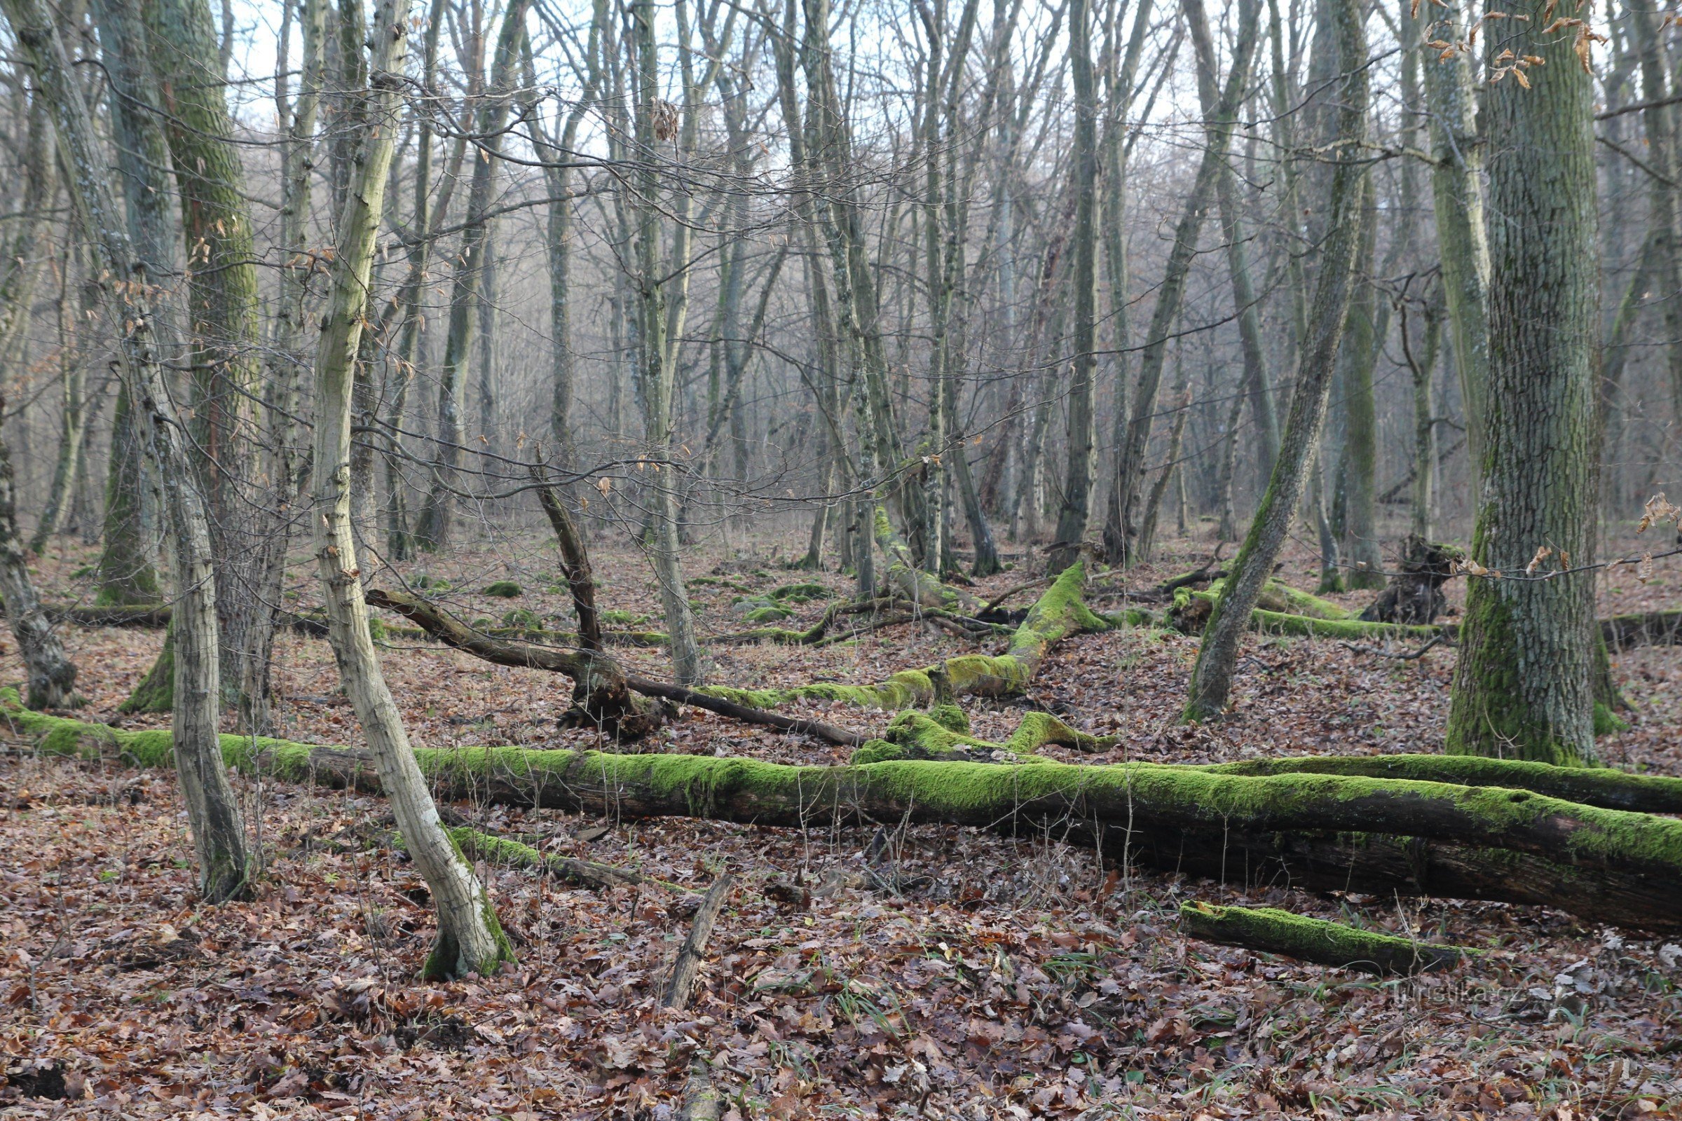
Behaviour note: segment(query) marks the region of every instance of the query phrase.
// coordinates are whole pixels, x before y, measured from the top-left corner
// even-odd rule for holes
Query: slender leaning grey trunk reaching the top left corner
[[[93,114],[71,74],[69,55],[50,12],[42,0],[5,0],[0,7],[40,82],[72,171],[69,187],[89,234],[99,244],[104,269],[123,286],[128,308],[121,336],[123,376],[145,417],[180,587],[173,738],[182,750],[175,753],[175,765],[198,854],[198,887],[205,899],[220,903],[246,894],[249,886],[246,829],[217,741],[215,566],[209,518],[188,462],[183,427],[155,350],[146,264],[135,254],[118,213]]]

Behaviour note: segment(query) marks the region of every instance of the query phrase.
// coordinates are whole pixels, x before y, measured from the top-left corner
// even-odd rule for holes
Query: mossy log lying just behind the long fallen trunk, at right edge
[[[1581,802],[1608,810],[1682,813],[1682,778],[1630,775],[1610,766],[1552,766],[1527,760],[1487,760],[1477,755],[1364,755],[1241,760],[1208,770],[1223,775],[1349,775],[1406,778],[1460,787],[1505,787]]]

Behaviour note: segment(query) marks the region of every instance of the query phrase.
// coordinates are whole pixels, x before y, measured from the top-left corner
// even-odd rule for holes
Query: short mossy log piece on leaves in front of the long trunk
[[[1285,955],[1315,965],[1361,970],[1378,976],[1413,976],[1453,968],[1473,951],[1362,931],[1342,923],[1310,919],[1275,908],[1219,908],[1184,903],[1179,924],[1193,938]]]

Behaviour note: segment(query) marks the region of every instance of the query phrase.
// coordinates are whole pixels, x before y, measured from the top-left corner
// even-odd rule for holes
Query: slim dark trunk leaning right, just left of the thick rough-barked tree
[[[1253,15],[1251,15],[1253,18]],[[1297,503],[1304,476],[1325,420],[1325,402],[1339,343],[1349,313],[1354,255],[1359,242],[1359,210],[1367,166],[1359,155],[1367,128],[1367,52],[1362,12],[1354,0],[1330,0],[1329,18],[1342,69],[1337,109],[1336,161],[1332,170],[1330,224],[1320,249],[1320,272],[1314,291],[1309,334],[1300,356],[1297,388],[1280,444],[1278,461],[1250,533],[1231,565],[1214,613],[1198,649],[1191,676],[1187,719],[1209,719],[1226,708],[1238,639],[1250,627],[1250,613],[1273,571]]]

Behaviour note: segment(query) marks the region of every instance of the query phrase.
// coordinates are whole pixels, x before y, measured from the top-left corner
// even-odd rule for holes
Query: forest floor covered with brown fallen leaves
[[[742,630],[732,598],[811,580],[779,558],[804,541],[747,538],[685,558],[703,634]],[[1652,545],[1611,534],[1608,548]],[[1209,556],[1164,546],[1125,575],[1145,588]],[[594,551],[611,629],[659,629],[644,560]],[[1021,560],[1021,558],[1019,558]],[[1033,563],[1038,563],[1038,556]],[[56,602],[91,597],[76,546],[40,563]],[[1029,563],[1023,561],[1024,566]],[[535,529],[400,566],[449,580],[466,618],[513,608],[570,618],[553,548]],[[309,595],[309,566],[294,580]],[[1307,551],[1282,578],[1312,590]],[[389,580],[389,576],[387,576]],[[513,580],[518,598],[476,592]],[[849,592],[844,576],[817,575]],[[986,598],[1019,573],[982,582]],[[1120,575],[1093,578],[1113,610]],[[375,585],[380,582],[375,580]],[[1455,585],[1450,585],[1452,588]],[[1455,590],[1458,593],[1458,590]],[[1014,605],[1024,607],[1034,592]],[[1371,592],[1341,602],[1364,603]],[[1682,570],[1601,582],[1601,613],[1682,603]],[[784,625],[817,617],[822,600]],[[646,622],[643,622],[646,617]],[[569,625],[557,622],[557,627]],[[64,629],[86,719],[119,718],[161,632]],[[710,681],[871,682],[974,647],[902,625],[822,647],[715,647]],[[664,676],[659,649],[616,647]],[[1029,696],[965,708],[1004,738],[1028,709],[1120,736],[1087,761],[1219,761],[1273,755],[1435,751],[1453,650],[1416,660],[1334,640],[1253,637],[1230,719],[1177,723],[1196,640],[1154,630],[1058,647]],[[385,672],[417,745],[594,746],[558,731],[570,682],[392,639]],[[1628,731],[1620,766],[1682,775],[1682,649],[1615,660]],[[10,637],[0,682],[22,679]],[[279,734],[355,743],[323,640],[276,650]],[[801,713],[799,708],[789,709]],[[806,714],[880,731],[886,714],[814,703]],[[632,750],[843,761],[844,748],[688,711]],[[1056,753],[1056,748],[1048,753]],[[1682,1116],[1682,946],[1563,913],[1490,903],[1218,886],[1098,864],[1055,835],[965,829],[787,830],[705,820],[585,820],[459,803],[545,852],[644,869],[695,889],[740,886],[713,933],[688,1012],[656,990],[688,931],[685,896],[594,891],[484,867],[520,963],[420,985],[431,911],[394,852],[378,798],[237,776],[264,866],[252,903],[195,901],[173,773],[0,755],[0,1087],[5,1116],[673,1118],[696,1057],[727,1118],[1579,1118]],[[866,864],[893,889],[851,872]],[[814,889],[787,903],[791,882]],[[868,881],[866,881],[868,882]],[[1679,886],[1682,891],[1682,886]],[[1379,982],[1177,931],[1186,899],[1260,903],[1485,948],[1453,973]]]

